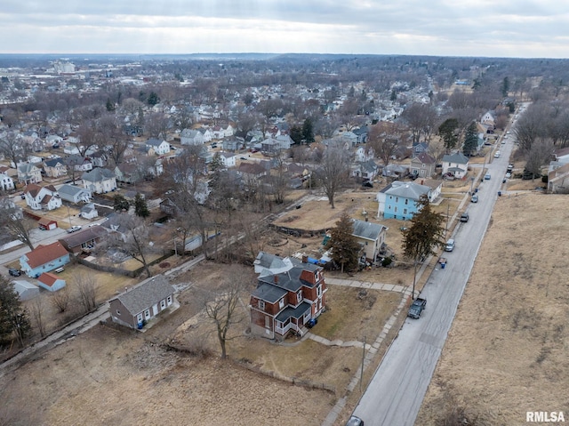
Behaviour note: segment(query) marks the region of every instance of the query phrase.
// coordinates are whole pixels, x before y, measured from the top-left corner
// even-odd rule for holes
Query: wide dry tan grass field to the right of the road
[[[499,198],[418,424],[440,424],[445,395],[482,424],[569,410],[566,196]]]

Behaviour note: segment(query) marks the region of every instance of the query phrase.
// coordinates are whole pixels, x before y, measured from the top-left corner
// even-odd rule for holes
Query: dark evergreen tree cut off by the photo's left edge
[[[0,276],[0,342],[14,335],[23,346],[30,331],[28,311],[23,309],[14,285],[8,278]]]

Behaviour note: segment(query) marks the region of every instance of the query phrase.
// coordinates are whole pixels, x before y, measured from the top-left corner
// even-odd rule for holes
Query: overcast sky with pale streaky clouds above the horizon
[[[0,22],[0,53],[569,53],[566,0],[3,0]]]

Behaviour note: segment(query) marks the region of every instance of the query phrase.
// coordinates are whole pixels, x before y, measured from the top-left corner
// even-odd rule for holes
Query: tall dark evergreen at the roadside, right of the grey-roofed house
[[[419,207],[419,212],[413,214],[411,226],[402,231],[405,256],[413,260],[413,299],[419,263],[430,254],[435,254],[435,248],[445,245],[445,217],[431,210],[426,195],[421,196]]]

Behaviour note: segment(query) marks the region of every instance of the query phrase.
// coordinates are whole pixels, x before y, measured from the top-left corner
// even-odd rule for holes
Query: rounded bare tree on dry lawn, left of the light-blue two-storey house
[[[324,187],[328,202],[334,207],[334,196],[348,179],[350,165],[349,151],[336,147],[328,147],[324,152],[322,163],[316,175]]]

